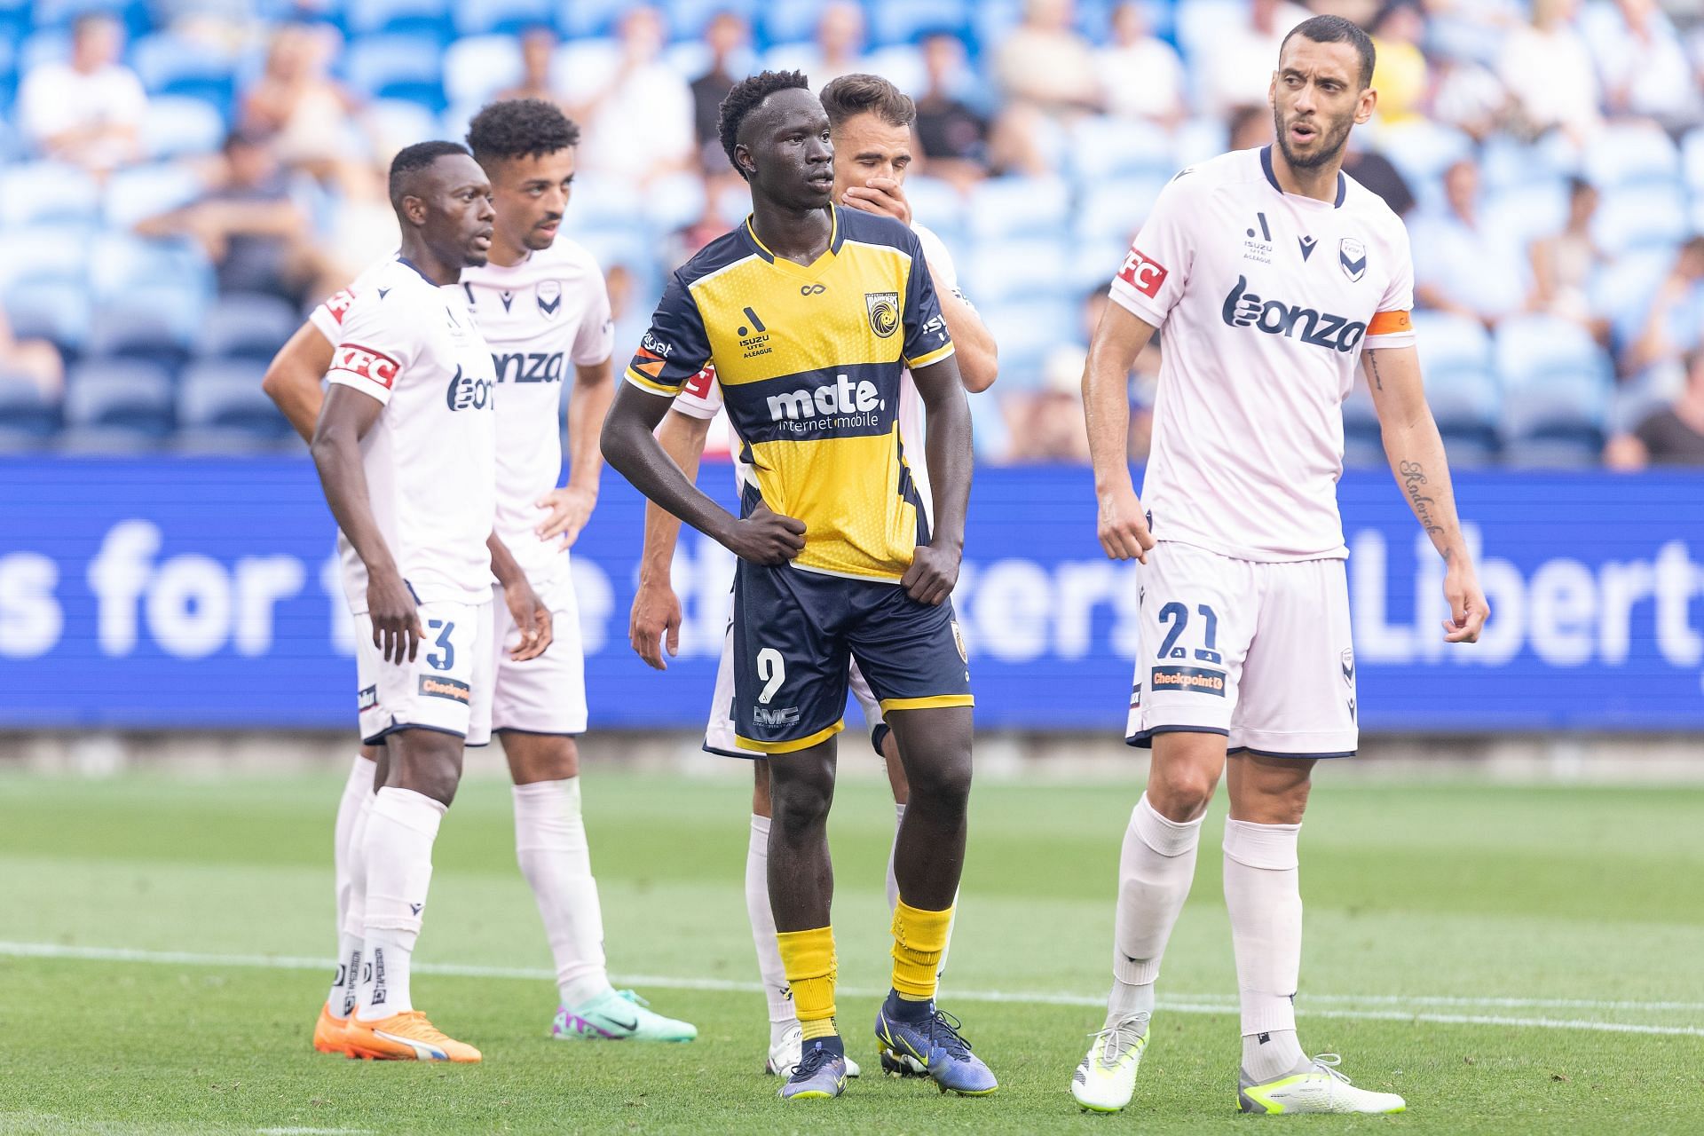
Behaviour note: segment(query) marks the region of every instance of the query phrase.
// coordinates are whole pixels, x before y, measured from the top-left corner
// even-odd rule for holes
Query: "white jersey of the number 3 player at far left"
[[[383,409],[361,439],[385,547],[419,603],[491,600],[496,416],[491,349],[467,301],[404,259],[361,276],[341,305],[325,382]],[[366,611],[366,565],[339,533],[349,610]]]

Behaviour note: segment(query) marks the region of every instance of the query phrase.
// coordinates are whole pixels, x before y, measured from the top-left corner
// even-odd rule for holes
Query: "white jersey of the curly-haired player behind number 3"
[[[498,373],[498,536],[542,581],[567,569],[559,538],[533,531],[538,497],[562,475],[562,383],[610,358],[610,295],[598,262],[566,237],[509,267],[463,269],[462,291]]]

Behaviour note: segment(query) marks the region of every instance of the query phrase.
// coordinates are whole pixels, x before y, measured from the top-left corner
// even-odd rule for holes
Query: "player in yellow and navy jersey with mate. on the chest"
[[[917,237],[832,203],[828,114],[796,72],[738,83],[721,138],[751,216],[675,273],[603,426],[603,453],[659,506],[740,557],[734,727],[769,754],[769,889],[804,1030],[780,1095],[837,1097],[828,804],[857,659],[912,787],[895,870],[893,990],[878,1042],[961,1093],[993,1075],[934,1007],[935,964],[964,860],[970,671],[949,596],[970,497],[970,405]],[[680,472],[651,431],[705,363],[755,485],[741,516]],[[930,531],[898,431],[900,373],[927,407]]]

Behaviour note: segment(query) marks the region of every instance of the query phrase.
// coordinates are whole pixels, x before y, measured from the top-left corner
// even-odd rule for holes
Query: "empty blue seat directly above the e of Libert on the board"
[[[1612,368],[1578,324],[1549,315],[1506,320],[1496,332],[1503,376],[1501,439],[1511,462],[1597,460],[1609,422]]]

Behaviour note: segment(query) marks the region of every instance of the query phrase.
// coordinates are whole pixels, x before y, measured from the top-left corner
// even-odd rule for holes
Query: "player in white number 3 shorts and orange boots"
[[[358,622],[361,739],[383,744],[356,852],[361,918],[341,944],[351,979],[363,976],[341,1047],[479,1061],[414,1008],[409,959],[462,746],[491,731],[491,577],[530,591],[492,533],[491,349],[462,296],[443,288],[484,262],[494,213],[484,170],[450,141],[402,150],[390,201],[400,252],[344,313],[312,441]],[[545,642],[547,613],[520,647]]]

